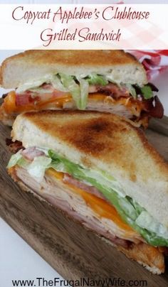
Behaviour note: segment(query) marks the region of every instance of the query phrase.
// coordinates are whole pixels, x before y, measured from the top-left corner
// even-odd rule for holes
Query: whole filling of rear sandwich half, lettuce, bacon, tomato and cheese
[[[140,87],[127,83],[115,82],[109,75],[46,75],[45,77],[26,82],[16,91],[9,92],[4,98],[6,114],[41,109],[96,109],[97,103],[104,104],[101,111],[110,112],[115,105],[116,113],[134,121],[150,117],[162,117],[163,107],[157,97],[153,96],[157,88],[151,84]],[[90,102],[94,102],[90,107]],[[117,110],[117,107],[124,107]],[[127,112],[125,112],[125,110]]]

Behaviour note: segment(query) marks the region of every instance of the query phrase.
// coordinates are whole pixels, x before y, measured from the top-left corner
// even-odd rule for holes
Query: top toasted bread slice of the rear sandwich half
[[[0,84],[6,89],[16,88],[59,72],[77,77],[110,72],[116,82],[140,86],[147,83],[144,67],[122,50],[27,50],[4,60]]]

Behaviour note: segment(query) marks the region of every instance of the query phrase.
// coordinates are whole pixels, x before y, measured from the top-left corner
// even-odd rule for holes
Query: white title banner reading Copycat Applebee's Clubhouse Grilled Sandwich
[[[168,4],[1,4],[0,49],[168,49]]]

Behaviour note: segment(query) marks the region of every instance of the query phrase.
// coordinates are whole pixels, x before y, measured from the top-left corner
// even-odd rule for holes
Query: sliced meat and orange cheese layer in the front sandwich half
[[[9,168],[9,173],[21,188],[39,195],[98,236],[110,240],[118,250],[152,273],[164,272],[165,248],[146,244],[140,234],[123,222],[115,207],[98,197],[98,193],[95,195],[84,186],[77,187],[72,178],[69,182],[67,175],[52,168],[47,170],[41,183],[21,166]]]

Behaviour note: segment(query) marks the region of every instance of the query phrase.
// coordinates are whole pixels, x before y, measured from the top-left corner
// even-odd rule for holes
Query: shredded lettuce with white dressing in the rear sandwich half
[[[137,92],[133,85],[129,83],[125,84],[118,82],[116,79],[114,80],[110,74],[98,75],[96,73],[91,73],[90,75],[80,75],[80,77],[75,77],[74,75],[65,75],[64,73],[58,73],[56,75],[47,74],[41,77],[41,79],[31,80],[31,82],[26,82],[23,85],[20,85],[16,92],[21,94],[26,90],[30,90],[31,92],[38,92],[41,94],[50,92],[52,93],[52,89],[48,90],[41,86],[44,83],[51,84],[58,91],[70,92],[70,94],[72,94],[73,100],[75,101],[76,107],[78,107],[78,109],[85,109],[88,102],[89,85],[105,86],[109,82],[114,83],[118,87],[122,87],[124,85],[127,87],[127,90],[130,92],[132,97],[135,99],[137,98]],[[150,99],[153,97],[152,89],[149,85],[145,85],[144,87],[137,87],[145,99]]]

